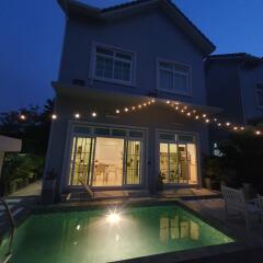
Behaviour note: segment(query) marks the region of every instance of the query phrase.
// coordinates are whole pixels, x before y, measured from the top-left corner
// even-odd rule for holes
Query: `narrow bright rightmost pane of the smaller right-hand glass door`
[[[197,184],[197,158],[196,146],[187,144],[188,183]]]

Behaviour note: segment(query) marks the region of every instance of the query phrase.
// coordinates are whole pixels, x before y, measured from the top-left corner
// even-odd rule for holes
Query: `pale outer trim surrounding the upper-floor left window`
[[[124,53],[124,54],[125,53],[130,54],[132,57],[133,57],[132,62],[130,62],[130,65],[132,65],[132,67],[130,67],[130,81],[116,80],[116,79],[103,78],[103,77],[95,76],[96,47],[114,49],[114,50],[117,50],[117,52]],[[122,60],[122,58],[118,58],[118,60]],[[103,81],[103,82],[115,83],[115,84],[135,87],[136,85],[135,77],[136,77],[136,53],[134,50],[124,49],[124,48],[121,48],[121,47],[116,47],[116,46],[112,46],[112,45],[107,45],[107,44],[102,44],[102,43],[98,43],[98,42],[92,43],[92,45],[91,45],[91,59],[90,59],[90,79],[99,80],[99,81]]]

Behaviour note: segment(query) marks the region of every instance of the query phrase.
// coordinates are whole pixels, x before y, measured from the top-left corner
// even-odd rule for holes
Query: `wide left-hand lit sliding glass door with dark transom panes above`
[[[141,184],[144,132],[76,126],[71,137],[68,185]],[[87,134],[87,135],[85,135]]]

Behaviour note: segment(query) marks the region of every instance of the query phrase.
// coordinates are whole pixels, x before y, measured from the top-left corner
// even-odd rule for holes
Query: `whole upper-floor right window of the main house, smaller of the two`
[[[190,67],[175,62],[158,61],[158,89],[190,95]]]

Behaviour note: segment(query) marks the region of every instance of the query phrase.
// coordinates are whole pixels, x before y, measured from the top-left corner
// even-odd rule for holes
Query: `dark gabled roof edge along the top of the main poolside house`
[[[103,21],[118,20],[155,8],[162,9],[206,56],[216,48],[171,0],[137,0],[105,9],[94,8],[75,0],[58,0],[58,3],[68,16],[84,15]]]

